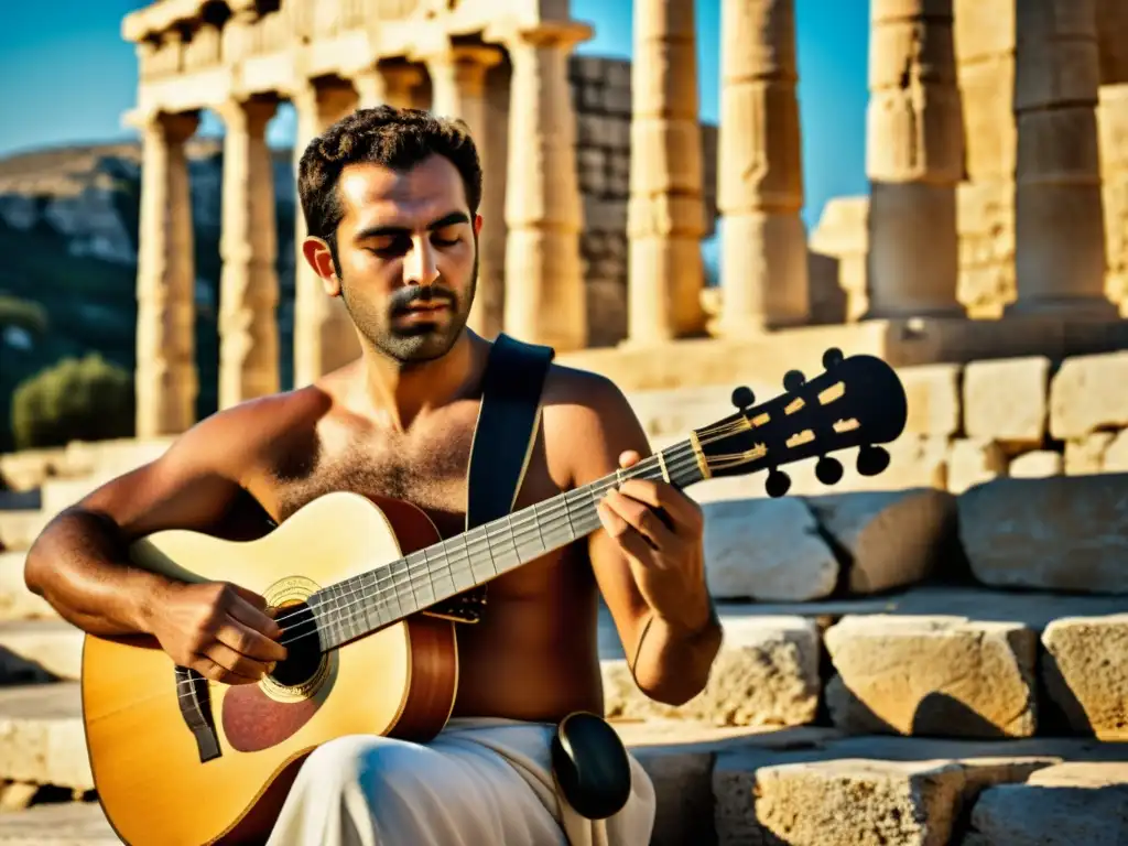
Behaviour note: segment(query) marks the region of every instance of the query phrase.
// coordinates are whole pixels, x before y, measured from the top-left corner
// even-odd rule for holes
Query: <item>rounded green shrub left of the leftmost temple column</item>
[[[11,398],[16,449],[133,435],[133,374],[91,353],[63,359],[21,382]]]

